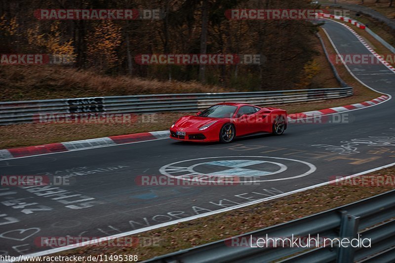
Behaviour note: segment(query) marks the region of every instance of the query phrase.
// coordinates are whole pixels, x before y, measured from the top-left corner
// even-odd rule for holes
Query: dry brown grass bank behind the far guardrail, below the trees
[[[301,75],[303,81],[295,84],[294,88],[338,87],[336,78],[325,61],[318,39],[313,39],[315,41],[312,42],[312,46],[317,51],[312,59],[314,63],[305,66],[305,71]],[[62,66],[0,66],[0,85],[0,101],[250,91],[245,87],[203,85],[197,81],[159,81],[125,75],[101,75],[91,70]],[[275,89],[281,87],[274,87]]]

